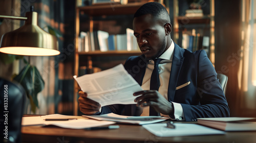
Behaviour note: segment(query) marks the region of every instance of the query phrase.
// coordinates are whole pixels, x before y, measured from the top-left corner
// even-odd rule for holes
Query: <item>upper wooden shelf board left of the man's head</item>
[[[125,15],[134,14],[143,4],[144,3],[131,3],[127,5],[121,5],[108,3],[105,5],[78,7],[77,9],[90,16]]]

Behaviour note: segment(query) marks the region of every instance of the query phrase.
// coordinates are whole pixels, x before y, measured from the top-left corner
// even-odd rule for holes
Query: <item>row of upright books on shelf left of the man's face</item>
[[[109,35],[108,32],[80,32],[78,38],[78,52],[90,51],[138,51],[136,37],[133,30],[127,28],[126,34]]]

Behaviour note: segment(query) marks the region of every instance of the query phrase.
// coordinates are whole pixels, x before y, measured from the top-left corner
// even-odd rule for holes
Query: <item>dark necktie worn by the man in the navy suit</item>
[[[158,64],[160,63],[162,59],[154,59],[154,70],[151,75],[150,79],[150,90],[157,90],[160,87],[160,80],[159,80],[159,68]],[[155,111],[153,107],[150,107],[150,116],[157,116],[158,112]]]

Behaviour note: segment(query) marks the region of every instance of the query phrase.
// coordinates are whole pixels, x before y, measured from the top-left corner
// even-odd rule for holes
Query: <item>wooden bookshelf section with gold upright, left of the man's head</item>
[[[134,14],[139,7],[141,7],[143,3],[128,3],[126,5],[116,4],[116,3],[109,3],[104,5],[91,5],[91,6],[76,6],[76,15],[75,15],[75,55],[74,55],[74,75],[78,75],[78,70],[80,66],[81,59],[86,59],[87,66],[93,64],[94,57],[122,57],[122,56],[134,56],[134,55],[141,55],[140,51],[90,51],[90,52],[78,52],[78,38],[80,33],[80,14],[86,14],[89,16],[89,32],[94,31],[94,17],[98,16],[108,16],[108,15],[128,15]],[[73,112],[74,115],[78,115],[78,90],[79,86],[77,85],[76,81],[74,81],[74,107]]]

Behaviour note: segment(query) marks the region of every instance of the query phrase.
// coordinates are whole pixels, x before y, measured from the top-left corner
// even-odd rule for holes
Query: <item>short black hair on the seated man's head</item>
[[[159,16],[168,16],[169,19],[169,14],[166,10],[166,8],[157,2],[150,2],[150,3],[146,3],[144,5],[142,5],[134,14],[134,18],[135,17],[139,17],[141,15],[145,15],[145,14],[151,14],[153,15],[155,18],[159,17]]]

